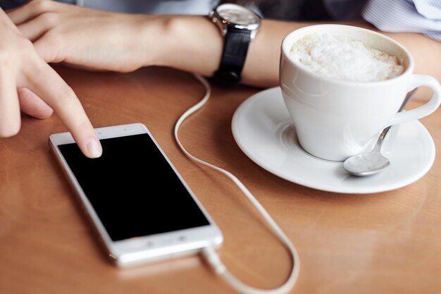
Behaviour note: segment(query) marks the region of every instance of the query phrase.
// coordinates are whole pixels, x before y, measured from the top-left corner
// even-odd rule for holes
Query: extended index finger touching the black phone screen
[[[90,158],[100,157],[102,147],[97,134],[73,90],[44,61],[39,60],[30,69],[32,72],[27,75],[27,79],[32,84],[31,90],[54,109],[72,133],[82,153]]]

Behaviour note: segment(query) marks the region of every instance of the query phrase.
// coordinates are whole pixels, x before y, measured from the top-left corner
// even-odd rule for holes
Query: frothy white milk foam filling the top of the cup
[[[290,56],[318,75],[354,82],[388,80],[405,70],[397,56],[337,35],[307,35],[292,44]]]

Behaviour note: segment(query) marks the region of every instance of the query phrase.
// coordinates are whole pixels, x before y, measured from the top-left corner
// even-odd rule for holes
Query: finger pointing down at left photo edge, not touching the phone
[[[18,104],[15,77],[8,65],[0,66],[0,137],[11,137],[20,130],[20,106]]]

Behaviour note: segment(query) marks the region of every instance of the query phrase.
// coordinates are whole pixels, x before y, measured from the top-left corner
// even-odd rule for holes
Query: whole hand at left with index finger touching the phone
[[[73,90],[0,9],[0,137],[18,133],[20,109],[36,118],[47,118],[55,110],[87,157],[101,155],[97,135]]]

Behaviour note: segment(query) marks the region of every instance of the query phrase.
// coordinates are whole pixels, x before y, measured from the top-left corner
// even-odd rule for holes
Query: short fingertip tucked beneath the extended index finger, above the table
[[[17,93],[20,110],[25,114],[44,119],[49,118],[54,113],[54,109],[31,90],[22,87],[18,88]]]

